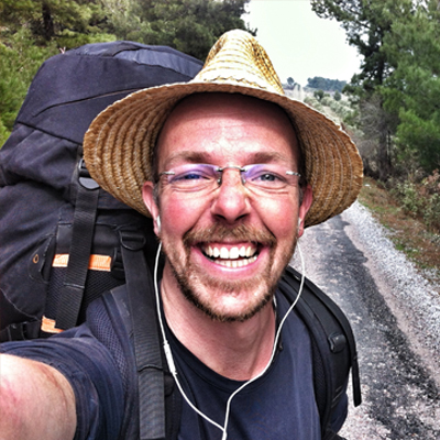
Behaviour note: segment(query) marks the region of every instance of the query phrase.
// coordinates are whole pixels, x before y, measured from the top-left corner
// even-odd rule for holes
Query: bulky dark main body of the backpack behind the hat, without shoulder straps
[[[132,42],[85,45],[42,65],[0,151],[0,341],[81,323],[90,301],[125,283],[122,249],[147,250],[152,262],[152,221],[90,178],[82,138],[116,100],[188,81],[201,66]]]

